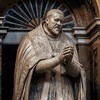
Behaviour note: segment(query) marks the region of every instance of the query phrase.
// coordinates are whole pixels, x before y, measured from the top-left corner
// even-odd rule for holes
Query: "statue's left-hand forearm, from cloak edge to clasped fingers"
[[[67,46],[55,57],[47,60],[41,60],[36,66],[36,72],[43,73],[52,70],[53,68],[61,64],[70,52],[72,56],[73,48],[71,46]]]

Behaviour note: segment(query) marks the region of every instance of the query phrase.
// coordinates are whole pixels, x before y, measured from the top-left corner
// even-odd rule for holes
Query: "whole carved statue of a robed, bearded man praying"
[[[75,44],[62,31],[64,14],[45,20],[21,41],[15,63],[13,100],[86,100],[86,75]]]

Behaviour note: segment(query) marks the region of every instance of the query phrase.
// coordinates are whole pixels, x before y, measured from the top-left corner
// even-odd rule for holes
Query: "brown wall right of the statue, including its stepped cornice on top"
[[[86,28],[76,28],[80,62],[87,77],[87,100],[100,99],[100,18],[95,18]]]

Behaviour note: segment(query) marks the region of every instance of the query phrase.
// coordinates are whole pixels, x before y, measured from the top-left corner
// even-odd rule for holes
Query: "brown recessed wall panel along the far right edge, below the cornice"
[[[92,73],[93,73],[93,91],[96,92],[95,96],[100,98],[100,36],[98,39],[92,44],[92,52],[93,52],[93,63],[92,63]]]

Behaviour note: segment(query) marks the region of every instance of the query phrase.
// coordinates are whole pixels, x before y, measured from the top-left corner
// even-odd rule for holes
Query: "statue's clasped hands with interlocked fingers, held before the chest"
[[[58,55],[61,62],[71,63],[74,54],[72,46],[66,46]]]

